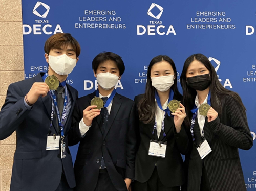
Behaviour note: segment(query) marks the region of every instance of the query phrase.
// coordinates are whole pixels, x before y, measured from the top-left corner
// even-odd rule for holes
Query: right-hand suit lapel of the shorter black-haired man
[[[110,112],[110,115],[109,115],[109,118],[108,118],[108,123],[106,124],[106,129],[104,131],[103,140],[105,139],[106,135],[108,134],[108,132],[109,132],[114,120],[115,120],[115,117],[118,113],[118,110],[119,110],[119,108],[122,104],[121,99],[122,99],[122,97],[120,97],[119,94],[116,93],[116,95],[113,99],[112,106],[111,106],[111,112]]]

